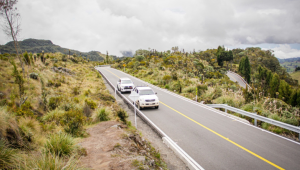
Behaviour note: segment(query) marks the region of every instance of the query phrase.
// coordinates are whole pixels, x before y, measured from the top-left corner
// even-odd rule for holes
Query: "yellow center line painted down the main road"
[[[107,70],[107,69],[105,69],[105,70]],[[109,70],[107,70],[107,71],[109,71]],[[110,72],[111,74],[115,75],[116,77],[120,78],[119,76],[117,76],[117,75],[116,75],[116,74],[114,74],[113,72],[111,72],[111,71],[109,71],[109,72]],[[217,133],[217,132],[213,131],[212,129],[210,129],[210,128],[208,128],[208,127],[206,127],[206,126],[202,125],[201,123],[199,123],[199,122],[195,121],[194,119],[192,119],[192,118],[190,118],[190,117],[186,116],[185,114],[183,114],[183,113],[181,113],[181,112],[179,112],[179,111],[177,111],[177,110],[173,109],[172,107],[168,106],[167,104],[165,104],[165,103],[163,103],[163,102],[161,102],[161,101],[160,101],[160,103],[161,103],[161,104],[163,104],[163,105],[165,105],[166,107],[170,108],[171,110],[173,110],[173,111],[175,111],[175,112],[179,113],[179,114],[180,114],[180,115],[182,115],[183,117],[185,117],[185,118],[187,118],[187,119],[191,120],[192,122],[194,122],[194,123],[196,123],[196,124],[200,125],[200,126],[201,126],[201,127],[203,127],[204,129],[206,129],[206,130],[208,130],[208,131],[210,131],[210,132],[214,133],[215,135],[217,135],[217,136],[219,136],[219,137],[221,137],[221,138],[223,138],[223,139],[227,140],[228,142],[230,142],[230,143],[234,144],[235,146],[237,146],[237,147],[239,147],[239,148],[243,149],[244,151],[246,151],[246,152],[248,152],[248,153],[252,154],[253,156],[255,156],[255,157],[257,157],[257,158],[259,158],[259,159],[261,159],[261,160],[263,160],[263,161],[267,162],[268,164],[270,164],[270,165],[272,165],[272,166],[274,166],[274,167],[276,167],[276,168],[278,168],[278,169],[280,169],[280,170],[284,170],[284,168],[281,168],[280,166],[278,166],[278,165],[274,164],[273,162],[271,162],[271,161],[269,161],[269,160],[267,160],[267,159],[265,159],[265,158],[263,158],[263,157],[261,157],[261,156],[257,155],[256,153],[254,153],[254,152],[250,151],[249,149],[246,149],[246,148],[244,148],[243,146],[241,146],[241,145],[239,145],[239,144],[237,144],[237,143],[233,142],[232,140],[230,140],[230,139],[226,138],[225,136],[223,136],[223,135],[221,135],[221,134],[219,134],[219,133]]]

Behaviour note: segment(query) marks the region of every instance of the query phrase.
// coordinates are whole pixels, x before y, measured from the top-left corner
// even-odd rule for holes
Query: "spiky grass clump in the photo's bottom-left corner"
[[[8,147],[4,140],[0,140],[0,169],[13,169],[17,152]]]

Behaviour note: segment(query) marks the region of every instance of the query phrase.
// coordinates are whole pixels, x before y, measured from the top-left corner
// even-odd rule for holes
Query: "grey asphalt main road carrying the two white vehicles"
[[[145,84],[112,68],[97,69],[112,83],[129,77],[135,85]],[[299,143],[152,88],[158,93],[160,107],[142,112],[206,170],[300,169]]]

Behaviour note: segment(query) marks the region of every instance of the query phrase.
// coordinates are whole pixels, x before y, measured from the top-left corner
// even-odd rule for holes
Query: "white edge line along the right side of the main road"
[[[111,69],[117,70],[117,69],[115,69],[115,68],[111,68]],[[117,70],[117,71],[120,71],[120,70]],[[120,71],[120,72],[124,73],[123,71]],[[127,74],[127,73],[124,73],[124,74]],[[154,88],[156,88],[156,89],[159,89],[159,90],[161,90],[161,91],[163,91],[163,92],[166,92],[166,93],[168,93],[168,94],[170,94],[170,95],[173,95],[173,96],[175,96],[175,97],[177,97],[177,98],[180,98],[180,99],[182,99],[182,100],[185,100],[185,101],[187,101],[187,102],[190,102],[190,103],[192,103],[192,104],[195,104],[195,105],[197,105],[197,106],[199,106],[199,107],[206,108],[206,109],[208,109],[208,110],[210,110],[210,111],[213,111],[213,112],[215,112],[215,113],[218,113],[218,114],[220,114],[220,115],[222,115],[222,116],[228,117],[228,118],[230,118],[230,119],[234,119],[234,120],[236,120],[237,122],[243,123],[243,124],[248,125],[248,126],[250,126],[250,127],[256,128],[256,129],[261,130],[261,131],[263,131],[263,132],[272,134],[272,135],[274,135],[274,136],[280,137],[280,138],[282,138],[282,139],[285,139],[285,140],[287,140],[287,141],[290,141],[290,142],[293,142],[293,143],[295,143],[295,144],[300,145],[300,143],[297,142],[297,141],[294,141],[294,140],[289,139],[289,138],[286,138],[286,137],[284,137],[284,136],[275,134],[275,133],[270,132],[270,131],[268,131],[268,130],[265,130],[265,129],[256,127],[256,126],[254,126],[254,125],[252,125],[252,124],[245,123],[245,122],[243,122],[243,121],[241,121],[241,120],[235,118],[236,116],[234,116],[234,115],[228,116],[228,115],[230,115],[230,114],[226,114],[226,113],[224,113],[224,112],[222,112],[222,111],[216,110],[216,109],[211,108],[211,107],[209,107],[209,106],[206,106],[206,105],[204,105],[204,104],[200,104],[200,103],[198,103],[198,102],[196,102],[196,101],[193,101],[193,100],[191,100],[191,99],[189,99],[189,98],[186,98],[186,97],[184,97],[184,96],[180,96],[180,95],[178,95],[178,94],[175,94],[175,93],[173,93],[173,92],[171,92],[171,91],[169,91],[169,90],[162,89],[162,88],[157,87],[157,86],[155,86],[155,85],[153,85],[153,84],[150,84],[150,83],[148,83],[148,82],[145,82],[144,80],[141,80],[141,79],[139,79],[139,78],[137,78],[137,77],[134,77],[134,76],[132,76],[132,75],[130,75],[130,74],[127,74],[127,75],[129,75],[130,77],[133,77],[133,78],[135,78],[135,79],[138,79],[139,81],[142,81],[142,82],[144,82],[145,84],[150,85],[150,86],[152,86],[152,87],[154,87]],[[234,117],[232,117],[232,116],[234,116]]]

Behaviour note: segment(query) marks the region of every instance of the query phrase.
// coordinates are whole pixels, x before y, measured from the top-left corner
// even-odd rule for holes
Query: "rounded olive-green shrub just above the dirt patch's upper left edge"
[[[85,120],[86,117],[83,116],[82,112],[76,109],[65,112],[60,124],[63,125],[67,133],[70,133],[73,136],[82,136],[84,130],[83,124]]]

